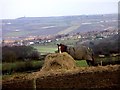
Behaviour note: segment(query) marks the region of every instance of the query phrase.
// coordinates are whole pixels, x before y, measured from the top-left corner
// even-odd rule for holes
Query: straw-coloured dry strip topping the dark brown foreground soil
[[[27,79],[37,79],[37,78],[45,78],[48,76],[65,76],[65,75],[73,75],[77,73],[87,74],[87,73],[104,73],[104,72],[114,72],[120,70],[120,65],[107,65],[107,66],[97,66],[97,67],[76,67],[74,69],[58,69],[58,70],[50,70],[50,71],[38,71],[32,74],[28,74],[26,76]]]

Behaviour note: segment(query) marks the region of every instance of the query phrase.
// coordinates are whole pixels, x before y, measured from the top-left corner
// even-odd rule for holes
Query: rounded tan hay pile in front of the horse
[[[71,70],[76,68],[75,60],[67,53],[49,54],[41,71]]]

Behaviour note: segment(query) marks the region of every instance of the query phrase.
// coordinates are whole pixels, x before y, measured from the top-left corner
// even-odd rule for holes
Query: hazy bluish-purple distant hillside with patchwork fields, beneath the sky
[[[3,38],[71,34],[117,28],[117,14],[21,17],[2,21]]]

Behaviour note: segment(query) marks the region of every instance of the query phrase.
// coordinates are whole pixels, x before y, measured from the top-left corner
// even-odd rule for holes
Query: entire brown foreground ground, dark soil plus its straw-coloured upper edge
[[[3,79],[2,88],[111,88],[120,89],[120,65],[78,67],[72,70],[38,71]]]

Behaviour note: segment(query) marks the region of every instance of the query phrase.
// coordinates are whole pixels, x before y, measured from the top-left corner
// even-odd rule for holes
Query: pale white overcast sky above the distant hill
[[[0,18],[118,13],[119,0],[0,0]]]

